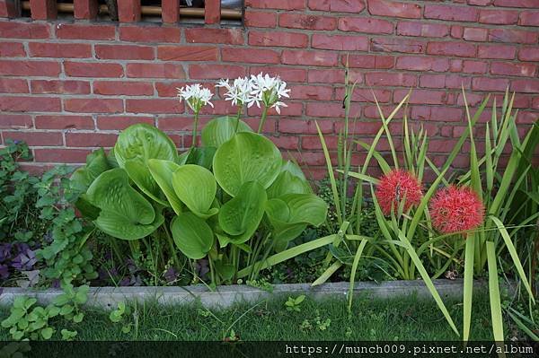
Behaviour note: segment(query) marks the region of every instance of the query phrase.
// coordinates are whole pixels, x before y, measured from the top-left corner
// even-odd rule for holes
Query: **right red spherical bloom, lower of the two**
[[[468,187],[443,188],[430,202],[432,226],[442,233],[473,230],[482,224],[485,208]]]

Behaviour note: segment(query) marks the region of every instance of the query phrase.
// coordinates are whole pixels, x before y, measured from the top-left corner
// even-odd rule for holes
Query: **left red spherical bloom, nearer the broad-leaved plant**
[[[420,182],[406,170],[391,170],[380,178],[376,187],[376,200],[384,215],[391,214],[392,207],[396,211],[402,200],[405,200],[404,211],[407,211],[412,205],[419,205],[421,197]]]

